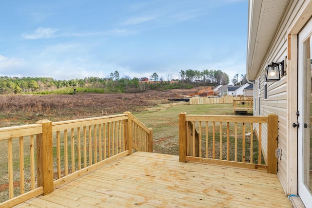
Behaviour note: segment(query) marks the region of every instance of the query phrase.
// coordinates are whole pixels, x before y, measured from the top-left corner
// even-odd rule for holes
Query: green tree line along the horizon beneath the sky
[[[80,79],[56,80],[50,77],[9,77],[0,76],[0,94],[20,94],[43,91],[54,91],[62,88],[101,89],[103,93],[136,93],[146,90],[166,90],[178,88],[192,88],[197,85],[217,86],[227,84],[229,77],[220,70],[181,70],[179,79],[164,81],[156,73],[150,80],[156,82],[140,82],[138,78],[119,77],[117,71],[109,77],[85,77]]]

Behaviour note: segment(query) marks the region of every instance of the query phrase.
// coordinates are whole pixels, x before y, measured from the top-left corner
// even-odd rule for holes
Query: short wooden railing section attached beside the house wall
[[[179,114],[179,160],[277,172],[278,116]],[[192,125],[190,125],[192,123]],[[254,125],[258,125],[258,132]],[[267,128],[262,146],[263,126]],[[262,151],[266,151],[266,158]]]

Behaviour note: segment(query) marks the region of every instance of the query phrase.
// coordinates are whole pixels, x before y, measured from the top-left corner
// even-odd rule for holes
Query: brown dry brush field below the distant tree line
[[[62,121],[125,111],[134,113],[170,103],[170,98],[209,90],[210,87],[197,87],[137,94],[1,95],[0,127],[33,124],[41,119]]]

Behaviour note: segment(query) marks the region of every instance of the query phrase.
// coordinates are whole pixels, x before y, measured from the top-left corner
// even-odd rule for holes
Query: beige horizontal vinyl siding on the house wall
[[[296,97],[289,97],[287,96],[287,90],[290,89],[287,83],[287,74],[286,76],[281,77],[280,81],[275,82],[268,82],[268,99],[264,99],[264,72],[266,70],[267,64],[272,62],[281,62],[285,60],[287,64],[287,52],[288,52],[288,34],[290,27],[294,25],[293,21],[299,10],[302,9],[305,0],[299,1],[290,1],[288,5],[285,15],[282,17],[279,27],[275,33],[273,38],[271,47],[267,52],[265,59],[263,60],[263,64],[258,71],[258,74],[255,79],[254,90],[255,90],[255,115],[268,115],[270,113],[276,113],[278,115],[278,147],[281,148],[281,158],[278,159],[278,172],[277,175],[280,178],[281,184],[287,194],[292,194],[293,191],[290,188],[290,184],[292,183],[291,176],[289,176],[290,172],[292,171],[292,164],[291,161],[293,158],[290,154],[289,146],[293,143],[292,139],[288,136],[288,122],[289,117],[288,114],[291,111],[296,111],[296,109],[289,109],[288,103],[290,99],[296,99]],[[292,49],[296,50],[296,49]],[[287,71],[289,69],[286,69]],[[258,84],[260,82],[260,90],[258,89]],[[296,86],[293,86],[296,87]],[[260,103],[259,103],[260,98]],[[259,112],[259,105],[260,105],[260,112]],[[256,129],[259,127],[256,126]],[[267,148],[267,126],[263,125],[263,132],[262,132],[262,147],[263,150]],[[289,127],[291,128],[291,127]],[[266,153],[263,151],[264,157],[266,160]],[[291,193],[292,192],[292,193]]]

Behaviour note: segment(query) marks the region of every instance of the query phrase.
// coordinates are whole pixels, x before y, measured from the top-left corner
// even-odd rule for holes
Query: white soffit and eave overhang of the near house
[[[250,0],[247,79],[254,80],[268,52],[289,0]],[[258,44],[259,43],[259,44]]]

